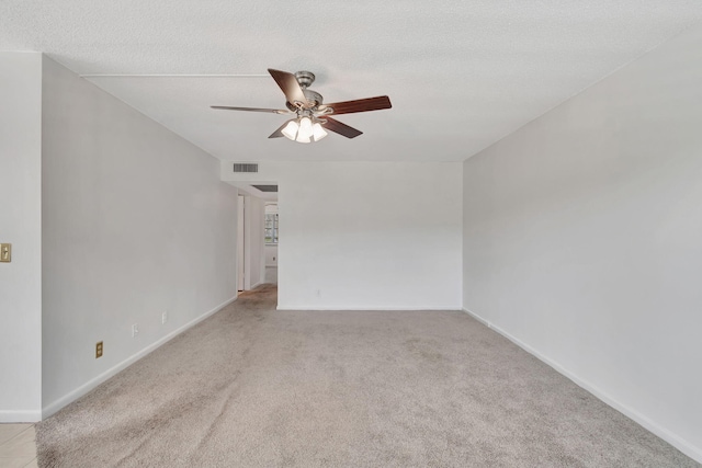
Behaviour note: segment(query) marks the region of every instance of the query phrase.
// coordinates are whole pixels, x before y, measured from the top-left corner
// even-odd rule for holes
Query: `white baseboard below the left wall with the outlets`
[[[184,326],[178,328],[177,330],[173,330],[172,332],[168,333],[167,335],[162,336],[161,339],[159,339],[159,340],[155,341],[154,343],[149,344],[148,346],[146,346],[145,349],[143,349],[138,353],[133,354],[132,356],[129,356],[126,359],[122,361],[120,364],[111,367],[110,369],[107,369],[104,373],[100,374],[99,376],[90,379],[89,381],[87,381],[86,384],[83,384],[80,387],[76,388],[75,390],[66,393],[65,396],[60,397],[59,399],[57,399],[57,400],[53,401],[52,403],[45,406],[42,409],[41,418],[37,418],[36,421],[39,421],[41,419],[46,419],[46,418],[50,416],[52,414],[54,414],[57,411],[59,411],[61,408],[64,408],[64,407],[68,406],[69,403],[76,401],[77,399],[79,399],[83,395],[87,395],[90,390],[94,389],[100,384],[102,384],[103,381],[107,380],[110,377],[113,377],[114,375],[116,375],[121,370],[125,369],[126,367],[131,366],[132,364],[134,364],[135,362],[140,359],[141,357],[146,356],[147,354],[151,353],[156,349],[162,346],[168,341],[170,341],[173,338],[178,336],[179,334],[181,334],[182,332],[184,332],[189,328],[200,323],[201,321],[205,320],[207,317],[218,312],[219,310],[222,310],[223,308],[225,308],[229,304],[234,303],[236,300],[236,298],[237,298],[237,296],[234,296],[233,298],[225,300],[224,303],[222,303],[220,305],[218,305],[214,309],[206,311],[202,316],[191,320],[190,322],[188,322]]]

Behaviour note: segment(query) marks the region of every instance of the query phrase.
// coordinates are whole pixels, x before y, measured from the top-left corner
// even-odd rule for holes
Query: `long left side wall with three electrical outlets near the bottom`
[[[237,191],[217,160],[48,58],[43,107],[46,415],[236,296]]]

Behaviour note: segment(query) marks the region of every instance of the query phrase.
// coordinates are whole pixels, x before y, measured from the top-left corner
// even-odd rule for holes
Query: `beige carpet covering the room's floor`
[[[463,312],[248,293],[37,426],[42,467],[692,467]]]

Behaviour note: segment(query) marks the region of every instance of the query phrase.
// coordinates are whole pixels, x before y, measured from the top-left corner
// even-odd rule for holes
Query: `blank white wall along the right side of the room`
[[[464,306],[702,461],[702,28],[464,165]]]

